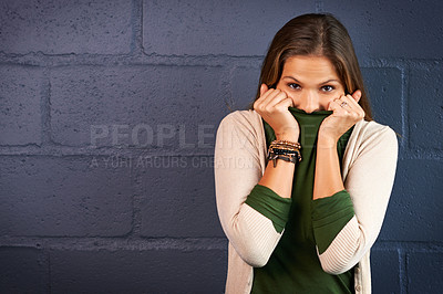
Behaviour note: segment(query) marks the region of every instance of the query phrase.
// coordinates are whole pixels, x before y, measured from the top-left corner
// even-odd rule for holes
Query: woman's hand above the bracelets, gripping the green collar
[[[281,91],[268,88],[261,84],[260,97],[254,103],[254,109],[268,123],[280,140],[298,141],[300,129],[288,107],[292,99]]]

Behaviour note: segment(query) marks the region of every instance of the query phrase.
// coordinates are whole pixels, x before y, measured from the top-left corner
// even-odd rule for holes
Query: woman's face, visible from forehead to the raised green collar
[[[292,99],[295,107],[306,113],[327,111],[331,101],[344,94],[332,63],[323,56],[289,57],[277,88]]]

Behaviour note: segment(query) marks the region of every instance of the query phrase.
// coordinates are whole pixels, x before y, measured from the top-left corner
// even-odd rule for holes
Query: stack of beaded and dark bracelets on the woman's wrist
[[[277,159],[297,164],[298,161],[301,161],[300,149],[301,146],[297,141],[274,140],[269,145],[268,160],[272,160],[274,167],[277,166]]]

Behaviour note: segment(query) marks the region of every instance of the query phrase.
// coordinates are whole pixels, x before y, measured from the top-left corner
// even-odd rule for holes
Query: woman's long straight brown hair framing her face
[[[369,97],[351,38],[344,25],[332,14],[303,14],[291,19],[277,32],[261,65],[255,99],[260,97],[261,84],[276,87],[285,62],[293,55],[317,55],[329,59],[343,83],[346,93],[361,91],[359,104],[364,111],[364,119],[372,120]],[[250,108],[253,109],[253,104]]]

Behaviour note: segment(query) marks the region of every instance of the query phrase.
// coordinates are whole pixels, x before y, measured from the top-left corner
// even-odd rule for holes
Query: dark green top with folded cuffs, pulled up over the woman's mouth
[[[269,218],[277,232],[285,232],[268,263],[254,267],[251,293],[353,293],[353,269],[332,275],[326,273],[317,255],[323,253],[336,235],[354,216],[346,190],[312,200],[317,135],[321,122],[332,112],[303,111],[289,107],[300,126],[302,160],[297,164],[290,199],[256,185],[246,203]],[[267,146],[275,139],[272,128],[264,122]],[[338,141],[342,161],[350,128]]]

